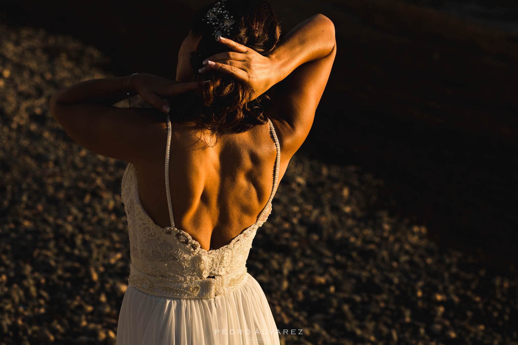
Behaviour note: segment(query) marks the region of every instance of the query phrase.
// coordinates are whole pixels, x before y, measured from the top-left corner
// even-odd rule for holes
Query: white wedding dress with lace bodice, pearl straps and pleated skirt
[[[175,227],[169,190],[171,123],[165,158],[165,186],[171,226],[157,226],[142,208],[137,171],[129,163],[122,200],[130,234],[131,273],[124,294],[117,345],[279,344],[279,331],[259,283],[247,272],[252,241],[271,213],[279,179],[277,146],[274,185],[268,203],[251,227],[215,249]]]

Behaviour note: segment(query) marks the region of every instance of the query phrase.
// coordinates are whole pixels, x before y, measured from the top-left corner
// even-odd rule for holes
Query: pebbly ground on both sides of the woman
[[[51,95],[109,57],[0,25],[0,344],[113,344],[129,274],[126,162],[85,151]],[[248,268],[284,344],[518,344],[517,279],[386,211],[382,179],[298,152]]]

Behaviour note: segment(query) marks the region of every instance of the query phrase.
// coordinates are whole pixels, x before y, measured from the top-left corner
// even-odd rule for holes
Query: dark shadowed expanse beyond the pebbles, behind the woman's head
[[[206,3],[19,1],[0,18],[93,44],[120,76],[172,79],[188,19]],[[336,27],[332,76],[301,150],[372,171],[397,200],[391,212],[516,275],[518,35],[408,3],[272,4],[283,33],[315,13]]]

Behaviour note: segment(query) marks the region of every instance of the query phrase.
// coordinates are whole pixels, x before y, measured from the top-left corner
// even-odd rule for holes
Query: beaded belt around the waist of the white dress
[[[240,288],[247,280],[247,267],[214,278],[184,280],[147,275],[130,264],[128,285],[153,296],[168,298],[203,298],[224,295]]]

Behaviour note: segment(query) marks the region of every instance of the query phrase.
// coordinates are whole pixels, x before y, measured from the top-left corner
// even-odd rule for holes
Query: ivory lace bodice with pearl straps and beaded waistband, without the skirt
[[[218,249],[205,250],[188,233],[175,227],[169,190],[169,149],[171,123],[167,116],[168,136],[165,161],[165,185],[171,226],[155,224],[143,209],[138,193],[137,170],[128,163],[122,178],[122,200],[130,234],[131,273],[129,283],[142,292],[181,298],[213,298],[231,292],[246,279],[246,261],[255,233],[271,213],[271,201],[278,186],[280,146],[274,125],[268,119],[277,147],[274,186],[257,221],[232,241]],[[208,278],[214,277],[214,278]]]

